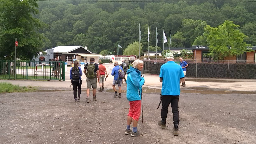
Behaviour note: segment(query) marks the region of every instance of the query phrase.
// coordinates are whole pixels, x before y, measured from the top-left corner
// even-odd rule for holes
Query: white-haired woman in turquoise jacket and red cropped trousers
[[[129,100],[130,109],[127,115],[127,126],[125,134],[131,133],[131,136],[142,136],[143,132],[137,130],[137,124],[141,113],[141,93],[142,85],[144,85],[144,74],[141,76],[143,70],[143,61],[135,60],[133,67],[127,70],[127,91],[126,98]],[[133,125],[131,130],[130,125]]]

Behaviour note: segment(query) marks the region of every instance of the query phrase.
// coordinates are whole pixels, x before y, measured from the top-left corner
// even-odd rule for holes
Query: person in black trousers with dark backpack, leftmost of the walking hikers
[[[81,75],[83,75],[83,72],[82,72],[81,68],[78,67],[78,62],[76,61],[74,63],[74,67],[72,67],[70,69],[70,73],[69,73],[69,77],[70,77],[71,83],[73,85],[75,102],[80,101],[81,85],[82,85]],[[77,91],[76,87],[78,89],[78,92],[77,92],[78,97],[77,97],[77,99],[76,99],[76,91]]]

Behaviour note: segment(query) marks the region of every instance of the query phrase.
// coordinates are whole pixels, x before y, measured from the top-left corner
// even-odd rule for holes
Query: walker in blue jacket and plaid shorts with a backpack
[[[114,66],[115,67],[112,69],[112,72],[111,72],[111,75],[115,75],[113,83],[112,83],[113,89],[115,91],[114,97],[116,97],[118,95],[118,93],[116,91],[116,84],[117,84],[118,88],[119,88],[119,95],[118,95],[118,97],[121,98],[121,82],[122,82],[122,78],[119,77],[119,72],[118,71],[119,70],[123,71],[123,68],[118,65],[117,61],[114,63]]]

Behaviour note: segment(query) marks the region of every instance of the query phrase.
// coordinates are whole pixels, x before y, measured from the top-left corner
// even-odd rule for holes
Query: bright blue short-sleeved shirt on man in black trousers
[[[163,78],[162,95],[180,95],[180,78],[184,78],[182,68],[173,61],[161,66],[159,77]]]

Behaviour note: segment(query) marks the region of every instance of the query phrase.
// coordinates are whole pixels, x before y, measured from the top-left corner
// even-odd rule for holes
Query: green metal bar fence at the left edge
[[[0,79],[65,80],[64,62],[0,61]]]

